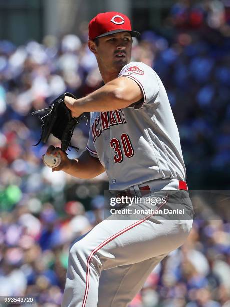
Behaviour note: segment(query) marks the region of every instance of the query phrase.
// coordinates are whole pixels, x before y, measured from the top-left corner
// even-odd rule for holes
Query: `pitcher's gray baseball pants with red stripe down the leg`
[[[194,214],[188,192],[151,194],[156,196],[167,199],[158,210],[179,208],[184,213],[133,214],[127,219],[113,214],[72,244],[62,307],[126,307],[155,266],[185,242]]]

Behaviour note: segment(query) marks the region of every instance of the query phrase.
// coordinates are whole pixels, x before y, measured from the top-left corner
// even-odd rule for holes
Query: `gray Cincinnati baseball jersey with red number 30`
[[[165,88],[142,62],[130,62],[118,77],[134,80],[142,101],[116,111],[92,112],[86,149],[105,167],[110,190],[155,179],[186,181],[178,128]]]

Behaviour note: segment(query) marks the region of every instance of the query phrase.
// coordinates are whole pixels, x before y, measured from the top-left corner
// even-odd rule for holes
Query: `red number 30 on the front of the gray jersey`
[[[134,150],[130,139],[126,133],[121,134],[121,143],[125,157],[130,158],[134,155]],[[121,163],[123,161],[123,152],[121,150],[121,143],[117,138],[112,138],[110,146],[115,150],[114,162]]]

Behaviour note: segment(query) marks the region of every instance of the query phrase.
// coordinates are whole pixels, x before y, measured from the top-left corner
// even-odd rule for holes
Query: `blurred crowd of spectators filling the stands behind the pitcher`
[[[40,122],[30,115],[65,91],[82,97],[103,84],[86,25],[41,41],[0,41],[0,296],[35,296],[35,306],[60,305],[70,243],[103,220],[106,174],[84,181],[52,173],[41,156],[60,144],[50,137],[33,147]],[[132,60],[153,67],[167,90],[189,188],[228,189],[230,2],[173,2],[161,27],[133,28],[143,31]],[[69,157],[85,150],[88,130],[85,122],[75,130],[80,150]],[[187,242],[155,268],[130,307],[230,306],[225,194],[214,204],[217,213],[202,196],[192,197],[197,215]]]

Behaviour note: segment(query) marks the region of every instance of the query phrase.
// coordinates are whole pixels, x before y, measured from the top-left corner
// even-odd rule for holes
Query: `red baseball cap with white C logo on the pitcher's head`
[[[90,40],[123,31],[130,32],[131,36],[140,35],[139,32],[132,31],[129,18],[119,12],[99,13],[89,23]]]

